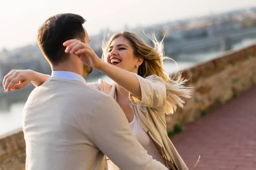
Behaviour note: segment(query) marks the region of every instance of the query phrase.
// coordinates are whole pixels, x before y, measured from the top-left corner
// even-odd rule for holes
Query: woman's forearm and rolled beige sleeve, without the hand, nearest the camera
[[[166,104],[166,84],[162,78],[151,75],[143,78],[122,68],[102,62],[98,68],[127,90],[134,105],[163,109]]]

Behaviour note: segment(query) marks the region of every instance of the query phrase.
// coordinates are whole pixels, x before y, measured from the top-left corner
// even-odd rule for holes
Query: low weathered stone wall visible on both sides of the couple
[[[196,91],[184,108],[166,116],[169,134],[256,84],[256,45],[188,68],[182,75],[190,79],[187,85]],[[0,136],[0,170],[25,170],[25,160],[22,130]]]

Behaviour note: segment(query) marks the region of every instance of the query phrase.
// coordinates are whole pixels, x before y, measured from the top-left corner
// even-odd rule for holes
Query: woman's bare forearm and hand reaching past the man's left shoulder
[[[49,75],[41,74],[32,70],[12,70],[3,78],[3,87],[5,92],[24,88],[30,82],[32,82],[35,87],[38,87],[48,78]]]

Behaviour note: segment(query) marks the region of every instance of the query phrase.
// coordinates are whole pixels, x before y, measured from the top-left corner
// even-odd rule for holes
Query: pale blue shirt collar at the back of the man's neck
[[[87,85],[87,82],[84,79],[84,77],[81,77],[81,75],[70,71],[52,71],[52,77],[56,77],[59,79],[79,80],[83,82],[85,85]]]

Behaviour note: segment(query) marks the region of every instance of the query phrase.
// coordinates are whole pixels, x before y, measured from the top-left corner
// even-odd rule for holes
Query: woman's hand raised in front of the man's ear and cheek
[[[96,69],[101,67],[103,61],[97,56],[89,44],[73,39],[67,40],[63,45],[67,47],[65,50],[66,53],[75,54],[84,64]]]

